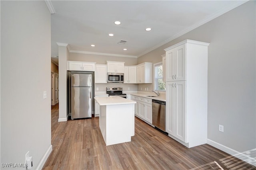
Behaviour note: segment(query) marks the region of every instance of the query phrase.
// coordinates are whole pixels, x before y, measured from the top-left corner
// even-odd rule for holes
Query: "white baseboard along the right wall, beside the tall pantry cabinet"
[[[234,149],[231,149],[229,147],[226,147],[220,143],[217,143],[215,141],[212,141],[210,139],[207,139],[207,144],[217,148],[217,149],[220,149],[228,154],[231,154],[232,156],[240,159],[240,160],[243,160],[244,162],[247,162],[253,166],[256,166],[256,158],[253,158],[251,156],[249,156],[248,154],[246,154],[247,152],[250,153],[250,152],[256,152],[256,149],[252,149],[252,150],[249,150],[249,151],[245,151],[245,152],[238,152]]]

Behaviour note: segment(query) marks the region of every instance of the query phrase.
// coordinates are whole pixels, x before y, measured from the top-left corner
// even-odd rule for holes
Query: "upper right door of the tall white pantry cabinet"
[[[174,80],[186,80],[186,44],[175,48]]]

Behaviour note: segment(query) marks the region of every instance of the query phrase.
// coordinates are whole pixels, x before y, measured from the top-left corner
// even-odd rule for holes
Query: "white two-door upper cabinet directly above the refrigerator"
[[[67,70],[70,71],[95,71],[94,62],[67,61]]]

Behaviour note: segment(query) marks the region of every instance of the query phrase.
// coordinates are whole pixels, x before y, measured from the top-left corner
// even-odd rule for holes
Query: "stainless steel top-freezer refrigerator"
[[[93,73],[71,73],[71,119],[92,117]]]

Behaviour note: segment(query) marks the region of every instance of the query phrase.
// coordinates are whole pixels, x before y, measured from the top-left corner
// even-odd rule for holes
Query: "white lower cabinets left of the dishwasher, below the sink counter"
[[[132,96],[136,102],[135,115],[148,123],[152,123],[152,100],[138,96]]]

